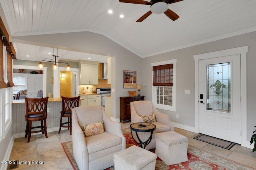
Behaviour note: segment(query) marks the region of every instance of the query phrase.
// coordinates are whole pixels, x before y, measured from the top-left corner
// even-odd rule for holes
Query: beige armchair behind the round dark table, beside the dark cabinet
[[[136,102],[131,102],[130,104],[131,104],[132,123],[144,122],[144,120],[142,119],[142,117],[140,117],[140,115],[150,115],[153,113],[156,115],[156,122],[150,122],[156,125],[156,130],[154,130],[152,140],[146,146],[146,149],[156,148],[156,139],[155,139],[156,133],[165,132],[165,131],[174,131],[174,127],[171,124],[170,115],[160,113],[151,101],[140,100]],[[135,132],[132,131],[132,133],[134,133],[133,137],[138,141]],[[150,132],[138,133],[138,136],[140,140],[144,142],[150,137]]]

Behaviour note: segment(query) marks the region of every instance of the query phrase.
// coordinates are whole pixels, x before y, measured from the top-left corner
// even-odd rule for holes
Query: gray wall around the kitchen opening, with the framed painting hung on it
[[[112,102],[116,103],[116,107],[115,109],[112,109],[114,113],[111,115],[116,119],[120,118],[119,97],[129,96],[128,91],[134,90],[123,88],[123,71],[137,71],[137,84],[142,83],[142,58],[128,51],[104,35],[86,31],[50,35],[21,36],[13,37],[13,39],[20,43],[28,43],[60,49],[65,47],[67,50],[115,57],[116,75],[115,77],[112,77],[112,82],[115,83],[111,84],[111,88],[114,88],[115,92],[112,93],[114,98],[112,97],[111,100],[114,100]],[[74,42],[72,40],[74,40]]]

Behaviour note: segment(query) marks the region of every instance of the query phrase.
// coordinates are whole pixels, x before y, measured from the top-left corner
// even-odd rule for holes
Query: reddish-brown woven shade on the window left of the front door
[[[173,64],[153,66],[153,86],[173,86]]]

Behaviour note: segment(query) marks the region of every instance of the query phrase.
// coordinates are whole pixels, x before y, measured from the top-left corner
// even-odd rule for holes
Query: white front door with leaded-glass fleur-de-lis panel
[[[240,55],[199,62],[199,133],[241,144]]]

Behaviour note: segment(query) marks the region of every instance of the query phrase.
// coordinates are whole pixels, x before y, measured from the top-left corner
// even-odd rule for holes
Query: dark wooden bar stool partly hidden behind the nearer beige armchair
[[[70,135],[72,135],[72,123],[71,123],[71,109],[79,106],[80,96],[74,98],[62,98],[62,111],[60,111],[60,130],[61,127],[70,128]],[[68,117],[68,122],[62,123],[62,117]],[[68,124],[68,125],[65,125]],[[60,133],[59,130],[59,133]]]

